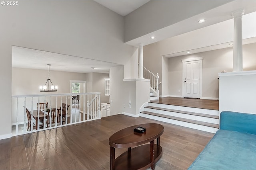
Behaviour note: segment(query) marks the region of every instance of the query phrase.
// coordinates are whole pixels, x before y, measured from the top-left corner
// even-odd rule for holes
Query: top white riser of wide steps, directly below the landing
[[[174,106],[174,105],[168,105],[168,104],[158,104],[158,103],[148,103],[148,106],[153,107],[162,107],[165,109],[174,109],[174,110],[181,110],[181,111],[190,111],[195,113],[203,113],[208,115],[219,115],[218,110],[210,110],[210,109],[200,109],[200,108],[194,108],[194,107],[184,107],[184,106]]]

